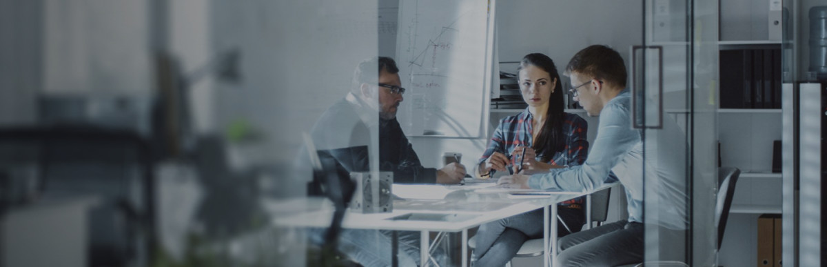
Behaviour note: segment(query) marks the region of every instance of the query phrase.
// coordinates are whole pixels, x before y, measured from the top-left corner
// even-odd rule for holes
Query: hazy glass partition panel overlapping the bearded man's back
[[[215,85],[211,115],[220,132],[237,138],[229,141],[228,160],[255,163],[242,170],[255,175],[250,194],[257,201],[251,206],[265,216],[254,218],[256,227],[243,231],[203,233],[205,243],[218,247],[195,247],[208,251],[204,258],[239,266],[347,263],[326,250],[332,245],[324,241],[326,231],[274,227],[271,221],[327,206],[297,201],[308,195],[309,187],[347,192],[344,188],[353,186],[345,184],[347,177],[320,177],[343,177],[337,169],[379,177],[379,112],[361,111],[379,107],[380,90],[388,90],[378,86],[378,61],[367,61],[380,56],[380,10],[376,0],[210,2],[208,47],[241,51],[244,79],[241,85]],[[347,159],[360,166],[348,166]],[[312,182],[322,184],[310,186]]]

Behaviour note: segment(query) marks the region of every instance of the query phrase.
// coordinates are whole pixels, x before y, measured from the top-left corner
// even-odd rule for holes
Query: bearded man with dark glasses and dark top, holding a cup
[[[378,70],[378,71],[377,71]],[[379,169],[393,172],[394,183],[456,184],[466,175],[461,163],[442,169],[423,167],[396,120],[405,89],[399,68],[390,57],[374,57],[356,66],[350,92],[328,108],[313,126],[311,137],[320,150],[335,149],[334,157],[349,172],[370,170],[368,152],[379,145]],[[377,116],[378,112],[378,116]],[[378,134],[378,140],[375,135]],[[324,242],[323,229],[309,233],[312,243]],[[392,265],[391,231],[343,230],[337,249],[364,266]],[[399,231],[400,266],[420,265],[419,232]],[[444,263],[444,251],[434,254]]]

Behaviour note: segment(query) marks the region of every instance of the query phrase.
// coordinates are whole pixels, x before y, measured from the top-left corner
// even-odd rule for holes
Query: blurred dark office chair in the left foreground
[[[141,265],[148,259],[155,185],[145,138],[91,126],[29,127],[0,129],[0,143],[0,157],[36,163],[40,198],[101,198],[89,212],[89,265]]]

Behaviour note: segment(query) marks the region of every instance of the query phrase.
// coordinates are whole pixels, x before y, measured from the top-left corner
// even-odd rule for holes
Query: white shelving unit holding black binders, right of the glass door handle
[[[767,26],[770,4],[719,1],[719,51],[780,49],[780,33]],[[756,266],[758,216],[782,213],[783,177],[771,172],[772,141],[782,138],[782,109],[718,109],[718,120],[722,166],[741,169],[718,265]]]

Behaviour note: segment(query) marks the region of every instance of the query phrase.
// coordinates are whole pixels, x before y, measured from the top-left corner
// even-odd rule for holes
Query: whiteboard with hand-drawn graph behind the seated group
[[[480,136],[490,80],[488,5],[400,1],[396,61],[408,90],[397,117],[406,134]]]

